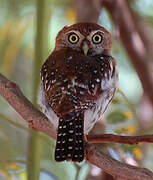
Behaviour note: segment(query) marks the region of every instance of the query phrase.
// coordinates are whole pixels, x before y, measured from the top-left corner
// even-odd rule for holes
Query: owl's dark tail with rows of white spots
[[[60,162],[84,159],[84,114],[71,112],[59,119],[55,160]]]

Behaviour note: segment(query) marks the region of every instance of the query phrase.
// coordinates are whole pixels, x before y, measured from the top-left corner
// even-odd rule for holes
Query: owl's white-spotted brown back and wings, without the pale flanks
[[[50,105],[58,114],[74,109],[91,109],[102,94],[113,96],[109,91],[113,89],[114,92],[116,88],[114,68],[111,56],[55,51],[41,71]]]

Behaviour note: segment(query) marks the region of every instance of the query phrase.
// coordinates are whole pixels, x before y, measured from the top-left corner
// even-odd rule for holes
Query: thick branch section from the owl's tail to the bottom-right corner
[[[114,178],[124,178],[126,180],[151,180],[153,173],[145,168],[138,168],[135,166],[121,163],[109,155],[100,151],[92,144],[87,144],[87,157],[86,159],[102,168],[103,171],[111,174]]]

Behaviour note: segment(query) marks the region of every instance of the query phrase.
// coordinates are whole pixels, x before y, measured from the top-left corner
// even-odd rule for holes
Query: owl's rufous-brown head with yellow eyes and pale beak
[[[110,33],[95,23],[65,26],[56,37],[55,50],[70,48],[85,55],[109,54],[112,47]]]

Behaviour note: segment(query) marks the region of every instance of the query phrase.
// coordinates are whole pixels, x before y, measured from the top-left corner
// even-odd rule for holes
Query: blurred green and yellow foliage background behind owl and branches
[[[153,27],[152,0],[131,1],[131,7]],[[35,106],[41,65],[54,49],[57,32],[75,22],[75,4],[71,0],[0,0],[0,72],[15,81]],[[105,9],[98,23],[113,36],[112,54],[117,59],[120,80],[100,133],[151,133],[152,123],[144,129],[138,122],[136,107],[143,94],[141,83]],[[0,180],[83,180],[100,175],[101,170],[86,162],[56,163],[54,148],[51,138],[29,130],[0,97]],[[120,161],[153,171],[153,145],[109,144],[102,150]]]

